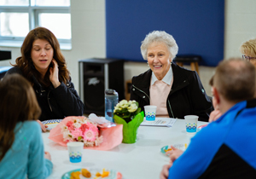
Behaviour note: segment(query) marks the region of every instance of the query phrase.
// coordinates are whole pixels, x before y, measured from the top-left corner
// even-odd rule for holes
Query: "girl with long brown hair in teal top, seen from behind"
[[[46,178],[52,172],[44,152],[41,109],[32,85],[20,74],[0,81],[0,178]]]

